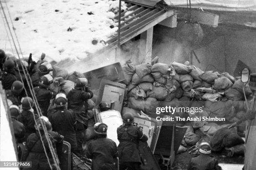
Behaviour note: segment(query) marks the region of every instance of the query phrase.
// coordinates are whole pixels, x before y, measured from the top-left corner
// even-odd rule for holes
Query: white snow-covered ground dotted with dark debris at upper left
[[[11,24],[7,7],[10,10],[23,56],[32,53],[36,60],[44,52],[47,60],[56,62],[67,58],[81,60],[87,57],[87,52],[104,47],[104,41],[118,30],[118,25],[111,19],[118,11],[118,3],[118,0],[2,1]],[[125,8],[122,2],[122,9]],[[11,46],[13,49],[14,46],[8,41],[4,27],[7,25],[3,23],[3,11],[0,11],[0,49],[12,52]],[[115,27],[110,28],[110,25]],[[96,45],[92,44],[93,40],[97,40]]]

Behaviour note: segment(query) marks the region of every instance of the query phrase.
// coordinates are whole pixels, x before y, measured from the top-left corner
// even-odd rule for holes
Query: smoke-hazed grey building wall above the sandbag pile
[[[201,25],[197,31],[193,29],[197,25],[191,27],[184,22],[178,22],[177,28],[156,25],[152,57],[159,56],[163,63],[189,60],[202,70],[227,71],[231,74],[238,60],[241,60],[253,72],[256,71],[255,30]]]

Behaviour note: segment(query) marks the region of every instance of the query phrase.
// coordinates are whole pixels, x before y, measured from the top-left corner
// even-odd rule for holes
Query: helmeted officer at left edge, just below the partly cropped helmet
[[[5,90],[10,90],[13,82],[17,80],[14,71],[15,63],[13,60],[6,60],[3,64],[2,85]]]

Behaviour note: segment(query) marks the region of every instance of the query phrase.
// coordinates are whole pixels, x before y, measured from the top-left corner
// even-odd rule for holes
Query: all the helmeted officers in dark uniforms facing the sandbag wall
[[[120,159],[120,170],[141,170],[138,144],[139,141],[146,142],[148,137],[141,128],[132,125],[134,117],[130,113],[123,115],[123,125],[117,128],[120,142],[118,147],[107,138],[108,126],[104,123],[94,125],[95,139],[87,143],[86,149],[82,147],[84,131],[88,125],[87,100],[93,97],[92,90],[87,87],[86,78],[77,78],[74,88],[66,96],[64,93],[55,94],[48,88],[53,76],[51,64],[45,60],[17,60],[0,50],[0,69],[0,80],[8,100],[18,158],[20,161],[32,163],[31,168],[23,170],[56,169],[56,161],[51,151],[57,153],[60,160],[57,164],[60,168],[66,169],[66,164],[61,162],[63,153],[60,148],[63,141],[67,141],[71,151],[80,158],[92,159],[92,170],[116,170],[116,158]],[[33,94],[36,100],[32,99]],[[52,99],[55,107],[49,112]],[[104,101],[99,107],[100,111],[110,110],[108,103]],[[54,150],[51,150],[49,140]],[[202,143],[199,153],[199,156],[189,162],[189,170],[219,170],[218,161],[208,156],[208,143]],[[71,169],[75,169],[72,155],[70,159]]]

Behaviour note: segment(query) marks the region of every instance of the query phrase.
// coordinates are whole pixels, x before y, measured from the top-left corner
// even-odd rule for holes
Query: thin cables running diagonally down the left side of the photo
[[[12,35],[12,33],[11,33],[10,26],[9,26],[7,17],[6,17],[6,15],[5,15],[5,12],[4,12],[3,5],[2,5],[2,2],[1,2],[1,1],[0,1],[0,5],[1,5],[1,7],[2,7],[3,14],[4,14],[4,16],[5,16],[5,20],[6,20],[6,22],[7,22],[8,29],[9,29],[9,31],[10,31],[10,35],[11,35],[12,40],[13,40],[13,43],[14,43],[15,50],[16,50],[16,52],[17,52],[17,55],[18,55],[19,59],[20,59],[20,56],[19,56],[17,47],[16,47],[16,45],[15,45],[15,41],[14,41],[13,35]],[[7,4],[6,4],[6,5],[7,5]],[[8,7],[7,7],[7,9],[8,9]],[[9,9],[8,9],[8,13],[9,13],[9,16],[10,16]],[[11,17],[10,17],[10,18],[11,18]],[[12,23],[12,24],[13,24],[13,23]],[[15,33],[15,36],[16,36],[17,42],[18,42],[18,37],[17,37],[17,35],[16,35],[15,30],[14,30],[14,33]],[[19,42],[18,42],[18,44],[19,44]],[[20,47],[20,44],[19,44],[19,47]],[[20,49],[20,52],[21,52],[21,55],[22,55],[21,49]],[[22,66],[23,72],[26,73],[25,70],[24,70],[24,67],[25,67],[25,66],[23,66],[23,65],[21,65],[21,66]],[[25,69],[26,69],[26,67],[25,67]],[[26,71],[27,71],[27,69],[26,69]],[[19,72],[19,74],[20,74],[20,72]],[[30,91],[32,92],[31,95],[32,95],[32,97],[33,97],[33,100],[34,100],[35,103],[36,103],[35,106],[36,106],[36,110],[38,111],[38,115],[42,115],[42,114],[41,114],[40,107],[38,107],[38,102],[37,102],[37,100],[36,100],[36,96],[35,96],[34,90],[33,90],[33,88],[31,88],[31,86],[32,86],[31,77],[28,75],[28,77],[29,77],[29,79],[30,79],[30,81],[31,81],[31,86],[30,86],[30,83],[29,83],[29,81],[28,81],[27,75],[26,75],[26,74],[24,74],[24,75],[25,75],[26,81],[28,82],[28,87],[29,87]],[[21,75],[20,75],[20,76],[21,76]],[[22,80],[22,78],[21,78],[21,80]],[[23,80],[22,80],[22,82],[23,82]],[[23,82],[23,84],[24,84],[24,82]],[[26,89],[25,89],[25,92],[26,92]],[[26,95],[28,96],[27,92],[26,92]],[[29,103],[29,104],[31,105],[31,103]],[[33,117],[34,117],[34,120],[35,120],[35,115],[34,115],[34,114],[33,114]],[[49,139],[49,135],[48,135],[48,133],[47,133],[45,123],[44,123],[44,121],[42,121],[41,119],[40,119],[40,121],[41,121],[41,124],[43,125],[43,130],[44,130],[44,133],[45,133],[45,136],[46,136],[46,140],[47,140],[47,142],[48,142],[48,144],[49,144],[49,149],[50,149],[51,155],[52,155],[52,157],[53,157],[54,163],[56,164],[57,169],[59,169],[59,166],[58,166],[58,164],[57,164],[58,158],[57,158],[57,156],[56,156],[56,153],[54,152],[54,148],[53,148],[53,146],[52,146],[51,140]],[[35,120],[35,122],[36,122],[36,120]],[[37,123],[36,123],[36,126],[38,127],[38,124],[37,124]],[[39,132],[39,135],[40,135],[40,139],[41,139],[41,141],[42,141],[41,133],[40,133],[39,130],[38,130],[38,132]],[[46,149],[45,149],[45,146],[44,146],[43,141],[42,141],[42,144],[43,144],[43,147],[44,147],[44,151],[45,151],[45,153],[46,153]],[[47,157],[47,159],[48,159],[48,163],[49,163],[49,165],[50,165],[50,168],[52,169],[51,164],[50,164],[50,162],[49,162],[49,158],[48,158],[48,156],[47,156],[47,153],[46,153],[46,157]]]

